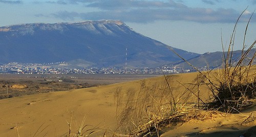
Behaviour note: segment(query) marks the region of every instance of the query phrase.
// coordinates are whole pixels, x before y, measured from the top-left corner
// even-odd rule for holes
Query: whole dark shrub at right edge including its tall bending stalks
[[[179,54],[173,49],[170,49],[173,50],[182,60],[201,73],[201,75],[207,80],[207,83],[205,84],[210,89],[213,97],[211,102],[208,104],[208,109],[214,108],[227,113],[239,112],[246,108],[246,106],[252,104],[251,99],[255,98],[256,73],[252,71],[252,67],[255,63],[256,57],[256,50],[253,48],[256,40],[254,40],[254,42],[248,46],[248,49],[245,50],[246,32],[254,12],[246,25],[241,56],[239,59],[233,59],[233,46],[237,24],[246,9],[241,13],[236,24],[234,25],[226,52],[224,51],[224,46],[222,44],[223,65],[222,68],[218,70],[217,75],[212,74],[211,70],[201,72],[195,66],[179,56]],[[248,58],[249,55],[251,58]]]

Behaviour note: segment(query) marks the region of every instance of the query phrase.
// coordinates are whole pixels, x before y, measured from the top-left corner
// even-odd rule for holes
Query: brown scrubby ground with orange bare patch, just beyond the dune
[[[52,88],[54,88],[54,91],[65,91],[94,86],[96,85],[90,85],[88,83],[78,83],[72,79],[63,80],[63,82],[46,80],[0,80],[0,99],[38,93],[47,93],[51,92]]]

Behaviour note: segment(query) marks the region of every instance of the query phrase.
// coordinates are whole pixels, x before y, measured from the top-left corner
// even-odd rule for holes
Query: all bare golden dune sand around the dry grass
[[[179,95],[185,90],[179,83],[189,88],[195,87],[193,83],[195,83],[197,75],[198,73],[179,74],[169,76],[167,79],[175,95]],[[67,122],[70,121],[71,112],[73,112],[73,133],[77,131],[84,117],[86,119],[83,126],[93,125],[87,126],[86,129],[98,127],[115,131],[117,122],[114,93],[117,87],[121,87],[122,93],[125,95],[127,93],[125,91],[131,88],[137,92],[141,88],[142,81],[148,87],[155,87],[155,90],[161,90],[166,86],[164,77],[154,77],[108,86],[0,100],[0,136],[17,136],[18,134],[19,136],[65,136],[69,131]],[[150,88],[148,90],[153,92]],[[206,99],[209,93],[201,88],[200,95],[202,99]],[[256,116],[255,107],[251,108],[249,112],[238,115],[228,114],[225,116],[225,114],[217,112],[201,113],[202,116],[199,117],[203,117],[202,119],[191,119],[183,124],[178,124],[174,130],[166,128],[163,130],[165,133],[162,133],[161,136],[197,136],[197,134],[205,135],[205,133],[216,135],[216,133],[211,134],[212,132],[218,132],[218,136],[223,136],[223,134],[230,134],[229,131],[238,136],[253,126],[250,130],[255,131],[254,117],[252,118],[254,121],[250,120],[241,125],[251,113]],[[101,133],[98,135],[102,136]]]

